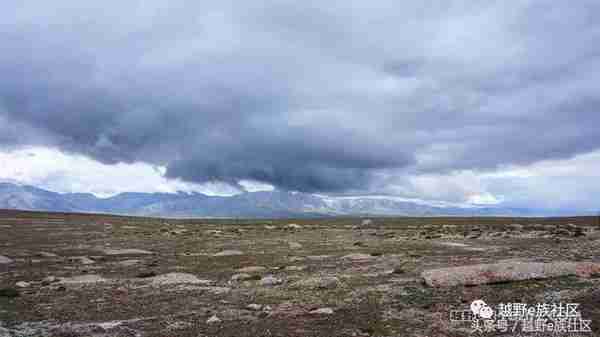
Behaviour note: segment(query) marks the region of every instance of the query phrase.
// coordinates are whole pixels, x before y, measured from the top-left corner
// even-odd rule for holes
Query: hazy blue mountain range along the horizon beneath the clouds
[[[505,215],[557,216],[568,212],[502,207],[444,207],[395,198],[323,197],[269,191],[234,196],[201,193],[121,193],[98,198],[85,193],[56,193],[33,186],[0,183],[0,208],[54,212],[94,212],[167,217],[315,217]]]

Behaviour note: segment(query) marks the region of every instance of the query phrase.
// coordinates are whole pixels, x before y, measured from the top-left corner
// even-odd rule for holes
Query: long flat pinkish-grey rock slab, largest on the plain
[[[433,269],[424,271],[421,276],[431,287],[452,287],[569,275],[589,277],[599,271],[600,264],[590,262],[510,262]]]

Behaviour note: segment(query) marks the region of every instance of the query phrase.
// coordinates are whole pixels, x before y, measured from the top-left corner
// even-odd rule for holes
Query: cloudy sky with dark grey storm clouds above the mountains
[[[0,180],[598,210],[600,3],[7,0]]]

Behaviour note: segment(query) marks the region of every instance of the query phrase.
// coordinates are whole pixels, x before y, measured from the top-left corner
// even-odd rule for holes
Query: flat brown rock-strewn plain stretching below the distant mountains
[[[2,212],[0,336],[468,336],[477,299],[579,303],[600,336],[597,220]]]

